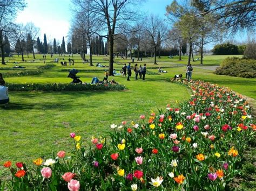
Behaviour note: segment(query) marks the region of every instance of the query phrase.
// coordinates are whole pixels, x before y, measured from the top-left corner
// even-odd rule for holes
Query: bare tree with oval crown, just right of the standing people
[[[159,44],[169,38],[168,29],[159,16],[150,15],[145,24],[145,32],[151,39],[151,44],[154,47],[154,65],[157,65],[157,48]],[[158,39],[159,34],[159,39]]]

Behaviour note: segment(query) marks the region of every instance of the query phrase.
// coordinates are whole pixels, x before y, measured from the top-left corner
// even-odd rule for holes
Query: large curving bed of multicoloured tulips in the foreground
[[[251,109],[232,90],[178,81],[192,90],[178,108],[112,124],[109,138],[84,145],[70,133],[72,153],[22,162],[10,168],[14,190],[223,190],[239,174],[248,142],[255,138]],[[4,187],[4,186],[2,186]]]

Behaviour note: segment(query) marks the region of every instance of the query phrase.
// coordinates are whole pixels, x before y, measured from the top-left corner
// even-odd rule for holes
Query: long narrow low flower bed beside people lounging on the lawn
[[[106,91],[124,90],[122,84],[6,83],[10,91]]]

